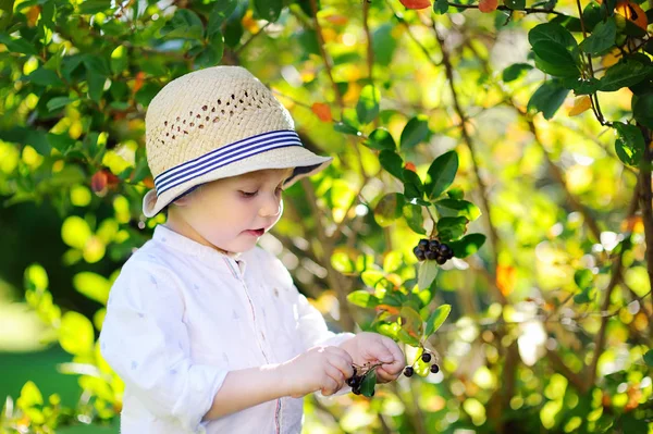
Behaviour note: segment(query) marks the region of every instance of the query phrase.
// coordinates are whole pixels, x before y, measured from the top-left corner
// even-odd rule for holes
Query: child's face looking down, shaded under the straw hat
[[[269,169],[202,185],[177,203],[199,241],[227,252],[251,249],[281,218],[282,185],[292,169]],[[262,231],[257,231],[262,230]]]

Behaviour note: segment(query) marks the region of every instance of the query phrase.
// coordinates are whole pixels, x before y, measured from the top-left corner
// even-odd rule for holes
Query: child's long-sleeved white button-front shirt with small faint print
[[[113,284],[99,340],[125,383],[122,434],[295,434],[303,398],[201,418],[230,370],[352,336],[330,332],[283,263],[260,247],[227,256],[158,225]]]

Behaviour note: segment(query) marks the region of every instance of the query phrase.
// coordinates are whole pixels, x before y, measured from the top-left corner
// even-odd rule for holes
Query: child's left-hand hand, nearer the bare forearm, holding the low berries
[[[288,395],[300,398],[316,390],[329,396],[354,375],[352,356],[340,347],[313,347],[280,365]]]

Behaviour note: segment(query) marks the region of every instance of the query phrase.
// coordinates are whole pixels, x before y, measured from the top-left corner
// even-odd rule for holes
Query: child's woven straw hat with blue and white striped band
[[[151,100],[145,125],[155,178],[155,189],[143,199],[148,218],[200,184],[294,168],[287,188],[333,160],[301,145],[288,111],[242,66],[207,67],[173,79]]]

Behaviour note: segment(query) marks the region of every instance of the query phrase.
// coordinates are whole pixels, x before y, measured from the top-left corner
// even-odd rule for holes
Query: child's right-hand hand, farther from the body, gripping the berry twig
[[[378,333],[358,333],[344,342],[341,348],[349,352],[356,364],[383,363],[377,368],[379,383],[395,381],[406,365],[406,357],[399,346],[390,337]]]

